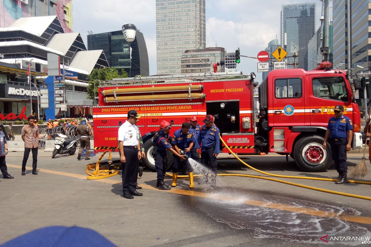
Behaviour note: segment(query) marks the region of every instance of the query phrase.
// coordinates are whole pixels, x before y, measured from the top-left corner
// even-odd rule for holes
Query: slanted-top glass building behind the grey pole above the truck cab
[[[324,37],[324,30],[319,27],[308,43],[308,70],[314,70],[322,62],[321,47],[324,47],[324,44],[321,37]],[[332,51],[332,20],[329,21],[328,26],[328,46]],[[332,52],[328,56],[328,61],[333,65]]]

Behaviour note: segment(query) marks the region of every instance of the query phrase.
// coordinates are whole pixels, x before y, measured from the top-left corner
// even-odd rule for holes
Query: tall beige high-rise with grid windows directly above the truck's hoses
[[[205,0],[156,0],[157,74],[180,74],[181,54],[206,47]]]

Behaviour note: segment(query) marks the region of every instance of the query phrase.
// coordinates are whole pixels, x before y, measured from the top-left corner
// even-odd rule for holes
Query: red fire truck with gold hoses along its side
[[[154,171],[151,138],[160,122],[171,123],[173,134],[191,116],[202,125],[211,114],[234,153],[278,153],[291,156],[304,171],[323,171],[332,164],[330,145],[325,150],[322,143],[338,104],[354,124],[353,148],[361,147],[359,109],[345,71],[273,70],[259,87],[254,79],[254,73],[206,72],[106,81],[99,86],[99,106],[93,108],[94,148],[118,151],[118,128],[127,112],[136,110],[143,116],[137,123],[146,152],[143,162]]]

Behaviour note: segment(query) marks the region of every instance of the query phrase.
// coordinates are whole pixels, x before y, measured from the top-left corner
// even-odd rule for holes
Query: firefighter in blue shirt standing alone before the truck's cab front
[[[326,149],[326,141],[329,140],[332,159],[339,173],[339,180],[335,184],[345,184],[348,183],[347,151],[351,150],[353,124],[349,117],[343,115],[343,106],[335,106],[334,113],[335,117],[331,117],[328,121],[322,146]]]

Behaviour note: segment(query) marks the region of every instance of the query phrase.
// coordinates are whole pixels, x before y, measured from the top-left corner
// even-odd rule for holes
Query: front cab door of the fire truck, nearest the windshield
[[[344,106],[344,114],[352,119],[351,93],[340,76],[309,76],[311,125],[327,127],[328,120],[334,116],[336,105]],[[349,107],[348,107],[349,106]]]

